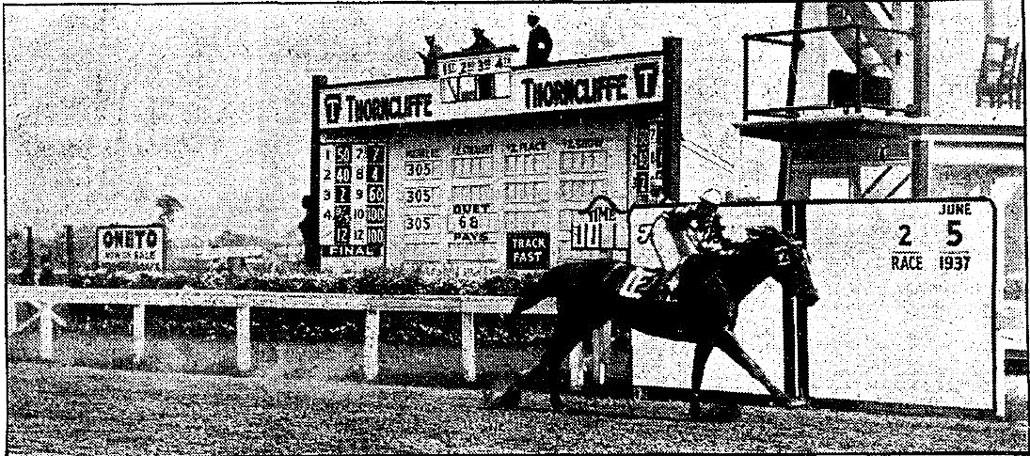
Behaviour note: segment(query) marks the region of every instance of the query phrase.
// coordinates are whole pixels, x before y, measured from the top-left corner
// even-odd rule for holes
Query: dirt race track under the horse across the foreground
[[[1027,424],[745,407],[733,423],[681,402],[542,394],[479,409],[469,389],[8,366],[11,453],[1019,451]]]

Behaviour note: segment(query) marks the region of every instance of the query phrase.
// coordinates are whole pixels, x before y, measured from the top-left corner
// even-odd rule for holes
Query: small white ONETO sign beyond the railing
[[[165,269],[165,226],[98,226],[97,264]]]

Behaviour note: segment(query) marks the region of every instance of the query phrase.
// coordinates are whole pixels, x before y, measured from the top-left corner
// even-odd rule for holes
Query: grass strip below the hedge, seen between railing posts
[[[134,369],[145,372],[230,375],[318,381],[360,381],[363,346],[351,343],[251,343],[253,370],[236,366],[235,340],[225,338],[148,337],[141,362],[132,362],[128,335],[92,331],[55,331],[55,361],[96,369]],[[38,335],[22,332],[9,339],[10,360],[38,358]],[[480,388],[508,371],[536,364],[541,348],[478,348],[478,380],[470,383],[461,371],[457,347],[380,345],[378,383],[412,386]],[[608,366],[611,384],[628,394],[628,353],[613,351]],[[563,376],[568,379],[568,375]]]

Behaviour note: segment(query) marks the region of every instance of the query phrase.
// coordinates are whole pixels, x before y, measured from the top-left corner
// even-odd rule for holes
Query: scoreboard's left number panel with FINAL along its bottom
[[[319,239],[323,256],[382,256],[386,242],[386,148],[321,146]]]

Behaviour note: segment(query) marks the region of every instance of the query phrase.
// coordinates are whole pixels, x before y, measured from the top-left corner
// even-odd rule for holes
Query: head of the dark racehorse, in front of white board
[[[812,283],[809,272],[809,253],[795,241],[771,226],[747,229],[749,241],[755,243],[763,265],[771,268],[771,277],[797,297],[803,306],[819,301],[819,291]],[[767,261],[767,262],[766,262]]]

